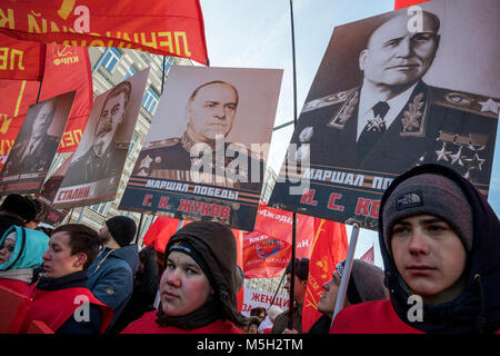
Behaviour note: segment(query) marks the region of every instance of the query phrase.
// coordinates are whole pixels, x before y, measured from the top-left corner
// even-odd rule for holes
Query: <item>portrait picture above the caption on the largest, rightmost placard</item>
[[[466,13],[460,7],[494,8],[493,2],[436,0],[421,4],[420,11],[402,9],[336,28],[291,139],[294,158],[309,159],[312,167],[387,174],[437,162],[488,185],[499,71],[481,68],[494,63],[481,56],[498,57],[499,26],[497,20],[482,23],[478,13],[484,11]],[[443,21],[446,11],[432,11],[444,4],[461,9],[457,11],[464,20]],[[494,27],[484,33],[497,34],[478,41],[473,23],[476,29]],[[468,56],[478,46],[489,52],[473,53],[471,65]],[[466,55],[453,56],[457,49]],[[496,78],[489,83],[481,76],[460,82],[476,72]]]

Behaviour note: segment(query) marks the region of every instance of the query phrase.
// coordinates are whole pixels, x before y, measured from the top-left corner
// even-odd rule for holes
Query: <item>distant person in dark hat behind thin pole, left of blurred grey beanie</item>
[[[284,274],[287,276],[287,281],[284,283],[284,289],[290,290],[291,284],[291,267],[292,260],[289,261],[287,268],[284,269]],[[306,289],[308,286],[308,277],[309,277],[309,258],[296,258],[296,276],[293,284],[293,330],[288,328],[288,324],[290,320],[289,310],[286,310],[278,315],[274,319],[274,325],[272,326],[271,334],[296,334],[302,333],[302,306],[303,300],[306,298]]]

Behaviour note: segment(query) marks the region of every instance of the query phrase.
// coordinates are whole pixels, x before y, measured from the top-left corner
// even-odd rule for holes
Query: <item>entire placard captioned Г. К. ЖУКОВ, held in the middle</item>
[[[253,224],[281,76],[274,69],[172,68],[120,207],[143,208],[133,201],[153,188],[149,211],[220,218],[233,227],[246,225],[240,216]],[[168,207],[159,204],[167,198]],[[231,212],[191,208],[190,201]]]

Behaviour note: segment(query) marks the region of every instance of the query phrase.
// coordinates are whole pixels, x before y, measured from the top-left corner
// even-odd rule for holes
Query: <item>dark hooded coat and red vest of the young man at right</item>
[[[416,333],[429,334],[499,332],[500,222],[486,198],[453,170],[438,165],[423,165],[394,179],[382,197],[380,211],[383,211],[387,198],[398,185],[420,174],[437,174],[453,180],[472,208],[472,249],[468,256],[462,294],[447,303],[423,303],[423,320],[409,322],[408,312],[413,306],[408,304],[409,288],[396,268],[392,255],[384,244],[383,229],[380,229],[379,243],[391,303],[372,301],[371,305],[356,305],[340,312],[333,322],[332,333],[381,333],[383,324],[386,329],[393,333],[397,333],[397,329],[400,333],[409,333],[412,329]],[[379,226],[383,226],[382,214],[379,216]],[[362,308],[369,309],[363,312]],[[362,320],[357,322],[360,315]],[[399,320],[396,320],[398,318]]]

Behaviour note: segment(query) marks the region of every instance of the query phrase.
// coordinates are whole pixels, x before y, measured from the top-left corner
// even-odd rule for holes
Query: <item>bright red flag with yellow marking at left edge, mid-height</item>
[[[37,101],[40,82],[0,79],[0,170],[12,148],[24,116]]]

